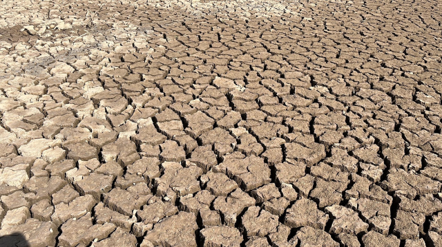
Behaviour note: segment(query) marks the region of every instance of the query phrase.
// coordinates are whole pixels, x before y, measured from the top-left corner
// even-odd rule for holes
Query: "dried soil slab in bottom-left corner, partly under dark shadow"
[[[10,246],[8,235],[22,235],[17,237],[21,241],[15,242],[13,246],[55,246],[58,235],[57,226],[52,222],[40,222],[38,219],[27,219],[24,224],[18,226],[5,226],[0,229],[0,246]]]

